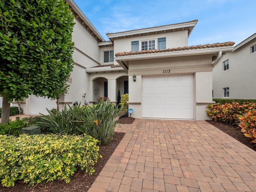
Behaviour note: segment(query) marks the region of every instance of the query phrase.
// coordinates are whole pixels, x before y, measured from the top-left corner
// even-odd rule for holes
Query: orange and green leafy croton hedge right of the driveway
[[[208,105],[207,114],[214,120],[239,126],[244,136],[256,143],[256,103],[238,102]]]

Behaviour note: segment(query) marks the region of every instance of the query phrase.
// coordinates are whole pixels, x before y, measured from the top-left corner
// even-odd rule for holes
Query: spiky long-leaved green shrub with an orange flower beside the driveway
[[[81,120],[84,121],[83,126],[78,129],[96,138],[100,145],[106,145],[114,136],[114,128],[117,123],[115,119],[121,110],[122,107],[116,108],[116,105],[110,103],[109,100],[106,102],[101,100],[96,105],[87,106],[82,110]]]

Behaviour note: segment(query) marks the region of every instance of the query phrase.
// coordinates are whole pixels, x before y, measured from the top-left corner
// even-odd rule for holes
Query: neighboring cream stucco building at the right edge
[[[213,98],[256,99],[256,33],[214,62]]]

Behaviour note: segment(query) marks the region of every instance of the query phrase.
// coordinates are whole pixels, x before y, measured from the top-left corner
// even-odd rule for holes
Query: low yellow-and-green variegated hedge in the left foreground
[[[97,140],[90,136],[0,135],[0,180],[11,187],[53,180],[70,182],[78,167],[92,175],[98,158]]]

